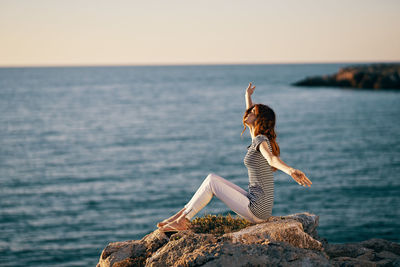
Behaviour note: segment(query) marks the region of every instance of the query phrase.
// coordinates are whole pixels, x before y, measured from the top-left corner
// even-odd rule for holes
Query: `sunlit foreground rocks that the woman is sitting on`
[[[222,236],[155,230],[141,240],[109,243],[97,267],[122,266],[400,266],[400,245],[384,239],[329,244],[319,217],[270,217]]]

